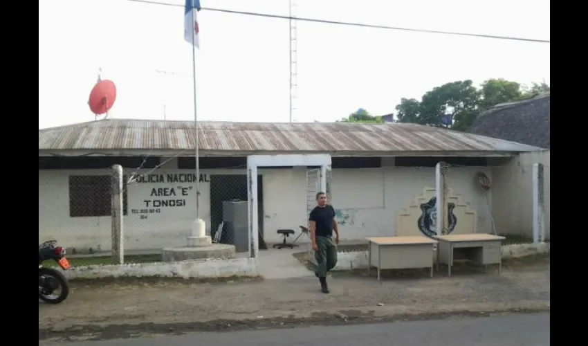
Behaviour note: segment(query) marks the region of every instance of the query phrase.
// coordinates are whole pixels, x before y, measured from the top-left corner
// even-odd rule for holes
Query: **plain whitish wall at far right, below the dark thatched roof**
[[[493,169],[493,212],[498,233],[533,237],[533,164],[544,165],[545,237],[550,236],[550,151],[520,154]]]

